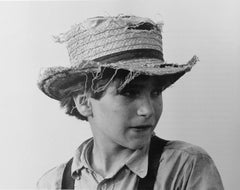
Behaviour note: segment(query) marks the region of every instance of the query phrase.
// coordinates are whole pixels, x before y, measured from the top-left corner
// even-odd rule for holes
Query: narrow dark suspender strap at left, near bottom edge
[[[73,158],[71,158],[63,171],[62,177],[62,187],[61,189],[74,189],[74,179],[71,175],[71,167],[72,167]]]

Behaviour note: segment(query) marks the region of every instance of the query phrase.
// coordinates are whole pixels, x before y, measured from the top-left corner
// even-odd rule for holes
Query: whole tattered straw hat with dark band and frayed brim
[[[169,77],[168,85],[190,71],[196,56],[184,65],[163,59],[162,24],[148,18],[119,15],[94,17],[55,37],[66,44],[70,66],[45,68],[38,86],[49,97],[61,100],[70,85],[84,93],[87,76],[99,76],[103,68],[128,70],[129,79],[139,74]],[[175,77],[173,77],[175,76]]]

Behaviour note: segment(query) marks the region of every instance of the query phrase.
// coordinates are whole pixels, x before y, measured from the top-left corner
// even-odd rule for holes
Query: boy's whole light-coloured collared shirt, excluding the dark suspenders
[[[93,139],[82,143],[72,163],[75,190],[134,190],[147,175],[148,146],[138,149],[114,172],[103,178],[89,164]],[[60,189],[66,163],[44,174],[38,189]],[[169,141],[160,158],[154,190],[223,190],[211,157],[200,147],[182,141]]]

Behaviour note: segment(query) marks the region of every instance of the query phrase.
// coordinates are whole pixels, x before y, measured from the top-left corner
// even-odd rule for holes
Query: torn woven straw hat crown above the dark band
[[[57,42],[66,43],[72,66],[129,50],[154,50],[162,56],[161,27],[149,18],[99,16],[73,26]]]

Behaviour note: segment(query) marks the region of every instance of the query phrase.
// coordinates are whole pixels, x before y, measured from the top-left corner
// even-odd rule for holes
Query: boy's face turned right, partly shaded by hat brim
[[[95,141],[138,149],[150,142],[162,113],[161,86],[153,77],[136,78],[118,92],[112,82],[100,100],[90,98],[88,118]]]

